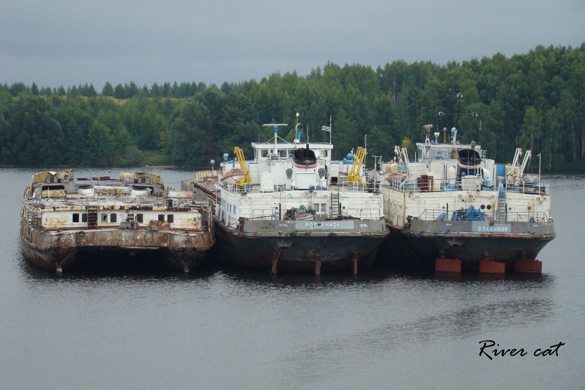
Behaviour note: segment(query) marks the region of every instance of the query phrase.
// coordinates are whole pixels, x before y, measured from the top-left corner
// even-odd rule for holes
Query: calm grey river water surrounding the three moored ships
[[[584,388],[583,175],[547,178],[557,237],[538,276],[271,277],[213,257],[187,276],[136,258],[59,276],[20,253],[38,171],[0,170],[0,389]],[[490,360],[483,340],[528,354]]]

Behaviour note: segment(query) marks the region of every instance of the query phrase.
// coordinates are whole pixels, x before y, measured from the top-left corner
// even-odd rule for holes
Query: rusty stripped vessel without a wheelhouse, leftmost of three
[[[148,251],[188,272],[214,244],[211,205],[147,172],[120,172],[119,180],[41,172],[25,191],[20,241],[28,260],[58,272],[100,250]]]

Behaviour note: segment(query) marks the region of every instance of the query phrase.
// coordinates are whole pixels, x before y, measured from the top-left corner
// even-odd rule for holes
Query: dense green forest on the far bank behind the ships
[[[289,123],[279,136],[292,140],[299,112],[303,140],[307,133],[328,140],[321,126],[331,118],[334,158],[367,135],[369,156],[388,160],[395,144],[422,141],[423,125],[450,129],[459,92],[460,112],[478,114],[460,116],[460,141],[475,140],[497,161],[521,147],[542,153],[543,170],[585,170],[585,43],[446,65],[328,63],[305,76],[275,73],[221,87],[4,84],[0,158],[21,166],[206,166],[234,146],[252,157],[250,142],[273,135],[263,123]]]

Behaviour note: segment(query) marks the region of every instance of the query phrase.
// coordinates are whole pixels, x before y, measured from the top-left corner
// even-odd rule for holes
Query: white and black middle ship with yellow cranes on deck
[[[342,178],[331,143],[300,144],[300,124],[294,143],[277,137],[285,124],[264,126],[274,128],[274,139],[252,143],[252,161],[236,147],[237,158],[225,154],[219,172],[183,181],[183,189],[214,202],[219,260],[273,273],[356,273],[371,265],[388,228],[379,189],[357,174],[365,151],[353,161],[353,176]]]

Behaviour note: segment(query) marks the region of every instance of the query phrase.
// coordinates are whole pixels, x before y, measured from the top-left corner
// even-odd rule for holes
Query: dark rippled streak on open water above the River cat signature
[[[507,299],[487,305],[448,310],[407,322],[401,322],[400,317],[396,317],[387,325],[363,333],[353,333],[302,348],[283,360],[291,365],[290,370],[307,373],[306,379],[315,381],[335,375],[339,371],[352,370],[356,360],[363,360],[358,364],[363,367],[367,361],[387,358],[388,355],[400,358],[405,349],[421,350],[421,356],[424,357],[425,349],[430,344],[482,337],[489,332],[501,334],[514,327],[538,326],[555,316],[553,306],[553,301],[548,298]],[[331,357],[332,360],[328,364],[322,364],[324,356]],[[315,370],[315,364],[318,364],[318,370]],[[393,361],[395,367],[402,364],[404,363],[400,360]]]

